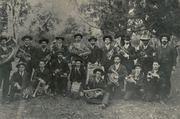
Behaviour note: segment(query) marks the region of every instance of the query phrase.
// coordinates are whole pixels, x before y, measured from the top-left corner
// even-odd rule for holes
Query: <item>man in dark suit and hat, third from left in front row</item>
[[[53,71],[54,84],[55,84],[55,92],[63,93],[66,95],[67,91],[67,82],[68,82],[68,74],[69,74],[69,66],[67,62],[63,59],[63,52],[59,51],[57,53],[57,59],[52,61],[51,71]]]

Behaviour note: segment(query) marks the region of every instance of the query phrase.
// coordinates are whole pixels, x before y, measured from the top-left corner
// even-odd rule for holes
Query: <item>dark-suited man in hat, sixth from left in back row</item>
[[[89,49],[91,50],[91,53],[88,55],[88,62],[101,64],[102,50],[96,45],[97,38],[91,37],[88,41],[90,42]]]

